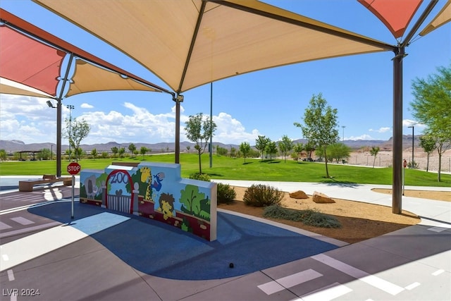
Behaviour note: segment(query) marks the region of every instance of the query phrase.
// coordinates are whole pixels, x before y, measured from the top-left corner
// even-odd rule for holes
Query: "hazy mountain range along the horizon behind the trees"
[[[415,136],[415,147],[419,147],[419,135]],[[305,139],[299,139],[294,140],[293,142],[296,143],[307,143],[307,140]],[[393,138],[390,137],[389,140],[345,140],[340,141],[345,143],[345,145],[351,147],[352,149],[359,149],[362,147],[381,147],[381,150],[390,151],[392,149],[393,144]],[[99,143],[95,145],[80,145],[80,147],[85,152],[90,152],[92,149],[97,149],[97,152],[111,152],[112,147],[124,147],[125,152],[128,152],[128,146],[130,143],[118,143],[118,142],[108,142],[108,143]],[[173,152],[175,147],[174,142],[160,142],[160,143],[135,143],[135,147],[137,150],[139,150],[141,147],[147,147],[148,149],[152,149],[152,152]],[[221,142],[213,142],[213,145],[216,147],[216,145],[219,145],[220,147],[224,147],[226,149],[230,149],[231,147],[235,147],[235,149],[239,149],[240,145],[226,145]],[[187,150],[187,147],[190,147],[190,150],[194,150],[194,143],[192,142],[180,142],[180,151]],[[412,147],[412,135],[403,135],[402,136],[402,148],[408,149]],[[43,143],[31,143],[31,144],[25,144],[23,141],[19,140],[0,140],[0,149],[5,149],[6,152],[31,152],[31,151],[38,151],[39,149],[51,149],[53,151],[56,151],[56,144],[51,142],[43,142]],[[68,149],[68,145],[61,145],[61,149],[63,152],[66,152],[66,149]]]

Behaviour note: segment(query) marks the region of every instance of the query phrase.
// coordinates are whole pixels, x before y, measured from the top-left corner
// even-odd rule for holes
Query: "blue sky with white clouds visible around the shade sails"
[[[424,2],[421,8],[428,4],[428,1]],[[389,44],[397,44],[385,25],[357,1],[280,0],[268,3]],[[444,0],[439,1],[431,16],[435,16],[444,4]],[[101,59],[167,87],[132,59],[31,1],[2,0],[0,6]],[[431,17],[425,25],[429,20]],[[406,49],[408,56],[403,62],[403,132],[406,135],[412,134],[412,128],[407,126],[414,123],[409,106],[412,80],[436,73],[439,66],[450,66],[451,24],[413,40]],[[254,145],[258,135],[276,141],[283,135],[288,135],[292,140],[302,138],[301,130],[293,123],[302,123],[309,100],[319,93],[330,106],[338,109],[340,139],[342,126],[345,126],[345,140],[388,140],[393,135],[392,59],[392,52],[346,56],[271,68],[214,82],[213,115],[218,125],[214,142],[237,145],[249,142]],[[182,127],[190,115],[209,115],[210,84],[183,94]],[[0,139],[25,143],[56,142],[56,111],[50,109],[46,101],[0,94]],[[94,92],[68,97],[63,99],[63,104],[75,106],[72,116],[85,118],[92,127],[82,143],[156,143],[173,142],[175,139],[175,107],[168,94]],[[63,118],[68,115],[69,110],[65,107]],[[422,125],[415,125],[415,135],[421,133],[423,128]],[[187,140],[183,128],[180,140]],[[63,144],[67,141],[63,140]]]

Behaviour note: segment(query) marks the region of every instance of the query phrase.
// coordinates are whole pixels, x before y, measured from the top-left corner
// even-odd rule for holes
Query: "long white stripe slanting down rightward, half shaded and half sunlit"
[[[368,274],[366,273],[366,271],[354,268],[354,266],[350,266],[349,264],[340,262],[339,260],[333,259],[332,257],[328,257],[325,254],[318,254],[312,256],[311,258],[319,262],[322,262],[323,264],[326,264],[330,267],[333,267],[334,269],[337,269],[338,271],[348,274],[354,278],[364,281],[365,283],[368,283],[369,285],[372,285],[375,288],[383,290],[389,293],[390,295],[397,295],[398,293],[402,292],[402,290],[404,290],[404,288],[398,285],[385,281],[382,278],[378,278],[377,276]]]

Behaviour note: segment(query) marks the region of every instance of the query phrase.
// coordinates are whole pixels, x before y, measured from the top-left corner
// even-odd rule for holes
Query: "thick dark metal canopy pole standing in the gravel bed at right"
[[[404,47],[393,58],[393,199],[392,212],[402,211],[402,59]]]

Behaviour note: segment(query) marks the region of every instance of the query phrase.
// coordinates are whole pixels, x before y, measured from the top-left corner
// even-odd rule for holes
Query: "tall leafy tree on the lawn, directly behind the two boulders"
[[[326,166],[326,177],[330,178],[327,166],[327,146],[338,141],[337,109],[328,106],[323,94],[313,95],[310,106],[305,109],[304,123],[295,122],[295,126],[302,129],[302,134],[316,147],[323,147]]]

